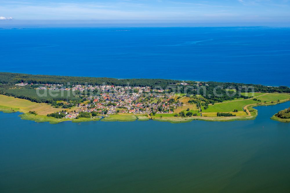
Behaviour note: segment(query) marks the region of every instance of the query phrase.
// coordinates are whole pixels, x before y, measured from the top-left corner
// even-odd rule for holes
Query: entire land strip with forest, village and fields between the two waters
[[[40,88],[63,95],[39,96]],[[36,122],[251,120],[253,107],[289,101],[289,94],[287,86],[0,72],[0,111]]]

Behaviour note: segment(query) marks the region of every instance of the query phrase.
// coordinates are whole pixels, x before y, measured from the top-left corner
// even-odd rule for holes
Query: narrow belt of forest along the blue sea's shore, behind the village
[[[56,75],[33,75],[33,74],[20,74],[10,72],[0,72],[0,83],[2,84],[16,84],[16,83],[34,83],[34,84],[64,84],[67,83],[80,84],[80,85],[115,85],[115,86],[149,86],[151,88],[161,87],[165,89],[177,83],[182,83],[180,80],[171,79],[115,79],[106,77],[70,77],[70,76],[56,76]],[[190,86],[196,87],[195,81],[186,81]],[[287,86],[268,87],[264,85],[244,84],[244,83],[223,83],[223,82],[201,82],[202,85],[208,84],[207,91],[213,90],[216,86],[220,86],[223,89],[232,87],[239,90],[242,86],[252,86],[255,92],[288,92],[290,88]],[[181,92],[184,93],[184,89],[187,85],[179,85]],[[158,88],[157,88],[158,89]],[[202,89],[201,89],[202,92]],[[244,88],[241,88],[240,92],[247,92]],[[250,92],[250,91],[248,91]]]

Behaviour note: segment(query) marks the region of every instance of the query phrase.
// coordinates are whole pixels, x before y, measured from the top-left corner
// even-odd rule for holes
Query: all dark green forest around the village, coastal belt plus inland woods
[[[28,83],[22,88],[15,88],[16,83]],[[180,83],[185,82],[187,85]],[[44,97],[39,97],[36,94],[35,86],[32,84],[64,84],[70,85],[115,85],[115,86],[148,86],[151,89],[166,89],[167,93],[184,93],[184,94],[200,94],[208,103],[218,103],[225,100],[233,100],[235,98],[249,97],[243,96],[241,92],[287,92],[290,93],[290,88],[287,86],[268,87],[264,85],[243,84],[243,83],[221,83],[221,82],[195,82],[195,81],[180,81],[170,79],[115,79],[115,78],[97,78],[97,77],[70,77],[70,76],[55,76],[55,75],[32,75],[10,72],[0,72],[0,94],[13,96],[21,99],[28,99],[33,102],[52,103],[52,101],[71,101],[79,100],[79,96],[73,96],[71,91],[64,91],[60,97],[52,97],[49,94]],[[251,87],[247,90],[245,87]],[[231,88],[226,90],[226,88]],[[134,89],[135,90],[135,89]],[[153,90],[151,90],[153,92]]]

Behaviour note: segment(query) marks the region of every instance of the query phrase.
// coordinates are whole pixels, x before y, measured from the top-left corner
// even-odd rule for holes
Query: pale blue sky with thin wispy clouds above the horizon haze
[[[289,24],[290,0],[0,0],[0,25],[45,20]]]

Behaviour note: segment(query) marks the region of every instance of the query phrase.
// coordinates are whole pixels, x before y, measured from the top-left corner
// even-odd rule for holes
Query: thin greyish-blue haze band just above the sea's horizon
[[[118,21],[111,20],[10,20],[1,27],[290,27],[286,22],[184,22],[184,21]]]

